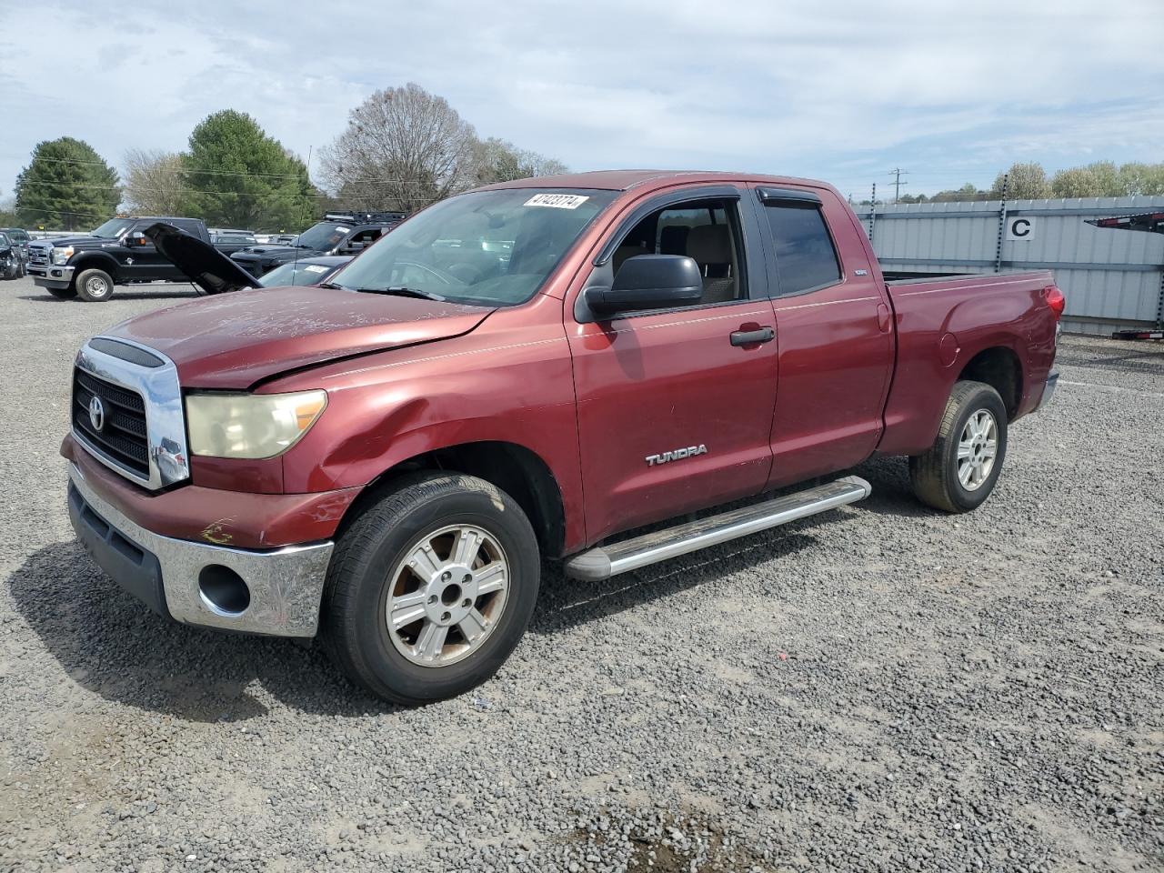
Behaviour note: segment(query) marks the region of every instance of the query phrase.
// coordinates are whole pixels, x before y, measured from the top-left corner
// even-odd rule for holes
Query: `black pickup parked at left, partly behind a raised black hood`
[[[88,234],[34,240],[28,247],[28,275],[58,299],[91,303],[108,300],[114,285],[187,282],[143,233],[158,221],[211,241],[201,219],[113,218]]]

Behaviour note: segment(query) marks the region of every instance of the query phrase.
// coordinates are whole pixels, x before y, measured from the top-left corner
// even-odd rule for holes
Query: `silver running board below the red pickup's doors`
[[[785,495],[754,506],[701,518],[665,531],[645,533],[609,546],[595,546],[566,559],[563,569],[570,579],[587,582],[610,579],[619,573],[637,570],[647,565],[686,555],[688,552],[697,552],[708,546],[863,501],[872,490],[870,483],[859,476],[845,476],[826,485]]]

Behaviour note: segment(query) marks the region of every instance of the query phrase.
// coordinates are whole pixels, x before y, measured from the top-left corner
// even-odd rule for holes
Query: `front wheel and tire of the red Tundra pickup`
[[[454,553],[462,535],[469,560]],[[530,520],[504,491],[460,474],[409,476],[336,544],[324,648],[353,682],[392,703],[454,697],[492,676],[517,646],[540,569]]]

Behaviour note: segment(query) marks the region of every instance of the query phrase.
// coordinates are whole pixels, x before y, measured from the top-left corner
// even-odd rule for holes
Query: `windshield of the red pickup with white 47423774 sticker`
[[[615,194],[531,187],[461,194],[409,219],[331,281],[516,306],[533,297]]]

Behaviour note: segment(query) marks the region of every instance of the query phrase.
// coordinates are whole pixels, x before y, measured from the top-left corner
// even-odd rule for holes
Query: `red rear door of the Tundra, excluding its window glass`
[[[767,232],[768,282],[780,341],[780,385],[772,425],[769,488],[852,467],[873,453],[893,368],[894,339],[885,291],[868,262],[847,208],[815,189],[836,247],[839,282],[781,294],[781,246],[753,200]]]

